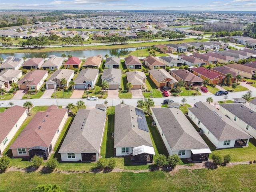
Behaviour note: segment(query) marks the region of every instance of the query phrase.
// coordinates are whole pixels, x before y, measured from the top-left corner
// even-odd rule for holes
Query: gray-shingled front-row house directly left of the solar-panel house
[[[62,161],[98,161],[106,121],[106,111],[79,109],[60,146]]]

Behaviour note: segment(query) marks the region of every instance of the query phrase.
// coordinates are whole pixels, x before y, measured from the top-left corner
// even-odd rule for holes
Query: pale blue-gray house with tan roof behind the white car
[[[94,88],[96,81],[98,79],[99,70],[98,69],[82,69],[76,79],[74,80],[75,89],[90,89]]]

